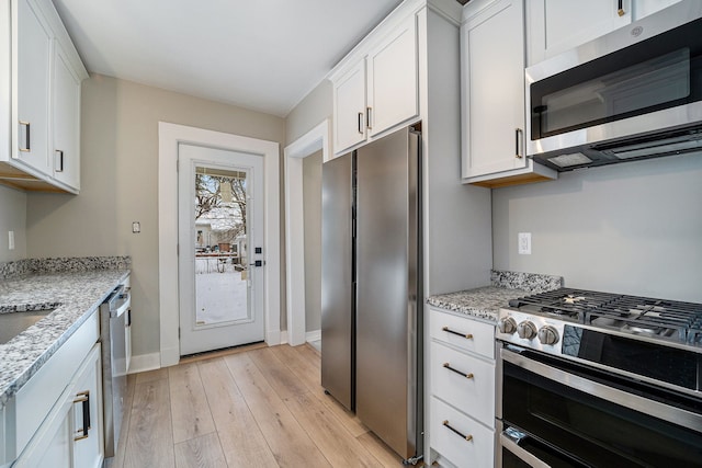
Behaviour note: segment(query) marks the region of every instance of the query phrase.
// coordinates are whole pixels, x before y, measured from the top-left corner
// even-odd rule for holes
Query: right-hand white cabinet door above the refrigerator
[[[367,56],[370,136],[419,115],[417,20],[408,16]]]

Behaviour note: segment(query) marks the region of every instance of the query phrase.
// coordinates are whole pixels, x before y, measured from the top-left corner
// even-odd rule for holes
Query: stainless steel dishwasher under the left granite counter
[[[132,358],[131,327],[132,297],[128,285],[122,284],[100,306],[105,458],[115,455],[120,441]]]

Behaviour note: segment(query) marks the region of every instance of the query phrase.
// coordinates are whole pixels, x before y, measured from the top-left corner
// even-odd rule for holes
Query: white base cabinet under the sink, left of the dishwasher
[[[3,458],[13,467],[102,466],[104,430],[98,311],[4,408]]]

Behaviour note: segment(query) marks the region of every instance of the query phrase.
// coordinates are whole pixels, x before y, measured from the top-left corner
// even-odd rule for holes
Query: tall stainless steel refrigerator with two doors
[[[420,135],[322,167],[321,385],[407,463],[422,452]]]

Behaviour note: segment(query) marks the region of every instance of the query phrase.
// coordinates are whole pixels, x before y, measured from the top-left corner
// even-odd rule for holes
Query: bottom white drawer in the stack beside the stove
[[[430,429],[431,447],[453,465],[492,466],[495,432],[433,397]]]

